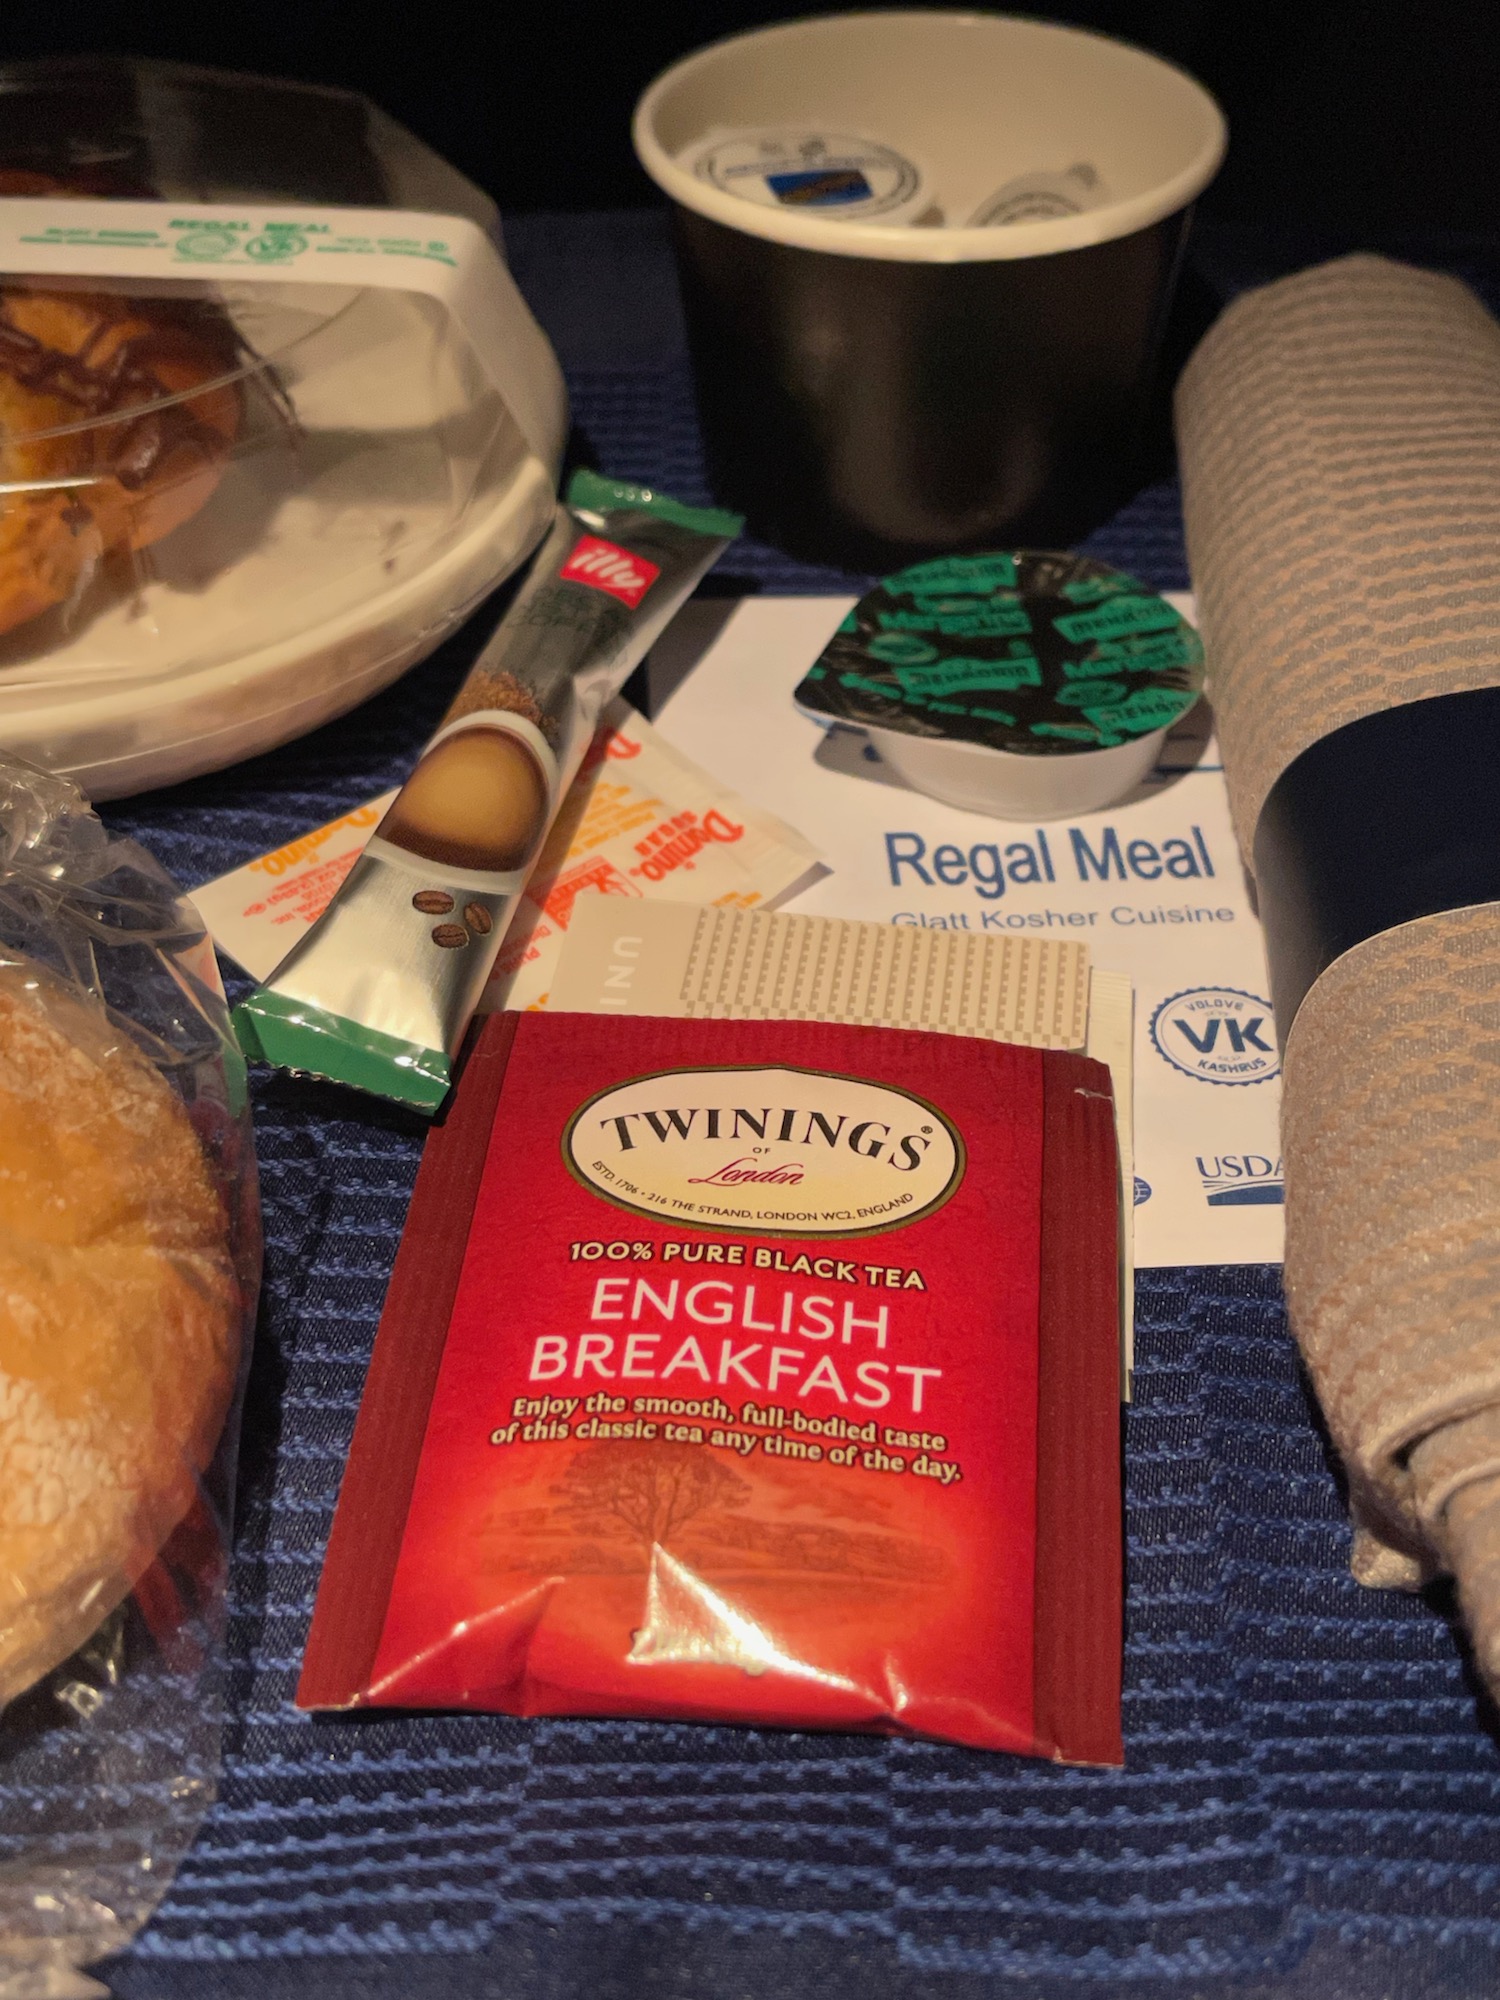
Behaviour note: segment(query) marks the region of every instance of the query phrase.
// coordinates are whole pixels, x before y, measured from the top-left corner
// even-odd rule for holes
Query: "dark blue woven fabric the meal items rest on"
[[[702,494],[652,220],[512,230],[600,464]],[[644,304],[642,304],[644,300]],[[612,316],[614,314],[614,316]],[[1186,582],[1176,494],[1090,544]],[[850,588],[742,544],[750,588]],[[200,882],[394,782],[480,618],[356,716],[108,810]],[[1272,1270],[1154,1272],[1126,1422],[1124,1772],[940,1744],[292,1708],[422,1126],[260,1076],[266,1306],[222,1800],[140,2000],[1500,1992],[1500,1756],[1450,1606],[1358,1590]]]

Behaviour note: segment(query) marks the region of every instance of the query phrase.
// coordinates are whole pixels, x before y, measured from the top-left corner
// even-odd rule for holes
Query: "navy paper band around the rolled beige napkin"
[[[1398,924],[1500,902],[1500,688],[1346,722],[1260,808],[1256,888],[1282,1046],[1312,982]]]

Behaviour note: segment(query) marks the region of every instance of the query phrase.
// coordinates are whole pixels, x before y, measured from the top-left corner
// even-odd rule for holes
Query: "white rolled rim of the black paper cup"
[[[762,208],[736,194],[700,180],[662,146],[656,136],[656,118],[664,100],[692,74],[692,70],[718,60],[724,50],[750,42],[766,42],[776,36],[796,36],[820,22],[838,22],[842,28],[856,28],[862,22],[920,22],[926,26],[1018,22],[1028,28],[1068,38],[1074,42],[1104,42],[1118,50],[1122,58],[1150,64],[1174,76],[1194,94],[1196,108],[1204,120],[1204,136],[1192,158],[1170,178],[1158,182],[1126,200],[1106,202],[1100,208],[1084,210],[1078,216],[1054,216],[1042,222],[1012,222],[1006,228],[910,228],[882,222],[840,222],[808,210]],[[882,8],[852,14],[802,16],[800,20],[776,22],[768,28],[752,28],[744,34],[722,36],[692,54],[682,56],[646,86],[634,120],[632,140],[636,158],[646,168],[656,186],[694,214],[720,222],[742,236],[760,236],[766,242],[786,244],[800,250],[822,250],[832,256],[880,258],[892,264],[998,264],[1022,258],[1056,256],[1062,250],[1088,250],[1096,244],[1116,242],[1134,236],[1188,208],[1202,194],[1218,172],[1228,146],[1228,126],[1214,98],[1196,76],[1174,62],[1122,42],[1118,36],[1096,34],[1092,28],[1070,28],[1060,22],[1044,22],[1022,14],[978,14],[956,8]]]

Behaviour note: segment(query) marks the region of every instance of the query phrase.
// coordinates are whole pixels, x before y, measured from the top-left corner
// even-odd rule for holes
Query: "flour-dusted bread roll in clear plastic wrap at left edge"
[[[0,1578],[10,1592],[0,1592],[8,1606],[0,1620],[0,1690],[8,1696],[0,1712],[0,1996],[30,2000],[102,1990],[80,1968],[122,1948],[146,1922],[214,1798],[224,1576],[260,1280],[260,1210],[244,1064],[228,1032],[214,952],[192,906],[144,850],[106,832],[72,784],[4,754],[0,988],[10,1006],[0,1036],[0,1100],[16,1086],[18,1050],[24,1054],[36,1022],[38,1034],[62,1036],[76,1058],[58,1120],[68,1128],[66,1144],[56,1142],[66,1160],[90,1146],[114,1148],[124,1090],[126,1132],[136,1140],[156,1134],[152,1158],[160,1168],[140,1176],[148,1190],[142,1202],[166,1204],[152,1212],[144,1254],[160,1254],[170,1266],[168,1284],[186,1278],[186,1290],[164,1292],[170,1310],[156,1322],[156,1338],[142,1342],[140,1374],[150,1378],[154,1404],[150,1424],[132,1430],[138,1410],[126,1408],[130,1384],[110,1378],[104,1408],[90,1408],[100,1400],[90,1368],[112,1334],[94,1320],[76,1324],[66,1364],[56,1362],[54,1338],[50,1360],[36,1360],[34,1342],[28,1348],[38,1298],[42,1312],[60,1296],[72,1298],[62,1290],[72,1266],[58,1284],[46,1266],[44,1290],[28,1292],[26,1280],[26,1260],[64,1242],[66,1216],[48,1232],[46,1200],[34,1194],[20,1206],[14,1180],[6,1190],[10,1214],[0,1202],[0,1546],[10,1572]],[[78,1064],[92,1072],[96,1094],[76,1088]],[[24,1078],[20,1098],[16,1112],[10,1088],[10,1134],[0,1132],[10,1176],[26,1166],[26,1116],[34,1104]],[[188,1238],[172,1206],[178,1182],[170,1152],[200,1194],[200,1214],[212,1212],[214,1250],[206,1260],[194,1262],[182,1248]],[[46,1188],[44,1178],[38,1188]],[[62,1210],[66,1202],[52,1206]],[[34,1224],[38,1214],[44,1220]],[[92,1238],[84,1254],[100,1254]],[[16,1270],[18,1286],[10,1282]],[[108,1290],[124,1296],[126,1282],[112,1264],[104,1276]],[[130,1324],[120,1306],[114,1332]],[[186,1344],[190,1330],[204,1324],[212,1330],[212,1366],[200,1366]],[[190,1384],[196,1436],[150,1454],[144,1440],[172,1438],[178,1404],[158,1392],[172,1370],[178,1402]],[[70,1438],[94,1424],[96,1436],[110,1440],[102,1472],[100,1452],[76,1452],[66,1476],[50,1486],[36,1474],[38,1382],[50,1384],[44,1424],[62,1432],[72,1426]],[[128,1534],[118,1524],[100,1530],[100,1484],[130,1478],[140,1492],[132,1496]],[[30,1536],[24,1548],[36,1552],[38,1524],[42,1540],[50,1538],[54,1570],[72,1562],[80,1578],[88,1538],[116,1536],[110,1562],[94,1564],[82,1602],[64,1608],[56,1592],[18,1602],[26,1578],[40,1572],[22,1576],[16,1550]],[[84,1644],[40,1678],[38,1646],[46,1640],[34,1632],[20,1648],[16,1640],[38,1602],[56,1644],[94,1624]]]

